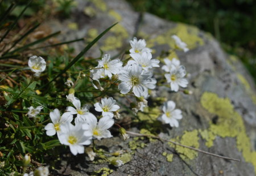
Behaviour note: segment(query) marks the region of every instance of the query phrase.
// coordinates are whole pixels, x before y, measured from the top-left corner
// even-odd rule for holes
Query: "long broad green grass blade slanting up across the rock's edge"
[[[116,25],[117,23],[113,24],[112,26],[110,26],[108,29],[106,29],[104,32],[102,32],[100,35],[98,35],[98,37],[96,37],[92,42],[90,42],[70,63],[69,65],[67,65],[57,76],[55,76],[55,78],[53,78],[51,81],[49,81],[47,84],[43,85],[40,88],[44,88],[47,85],[49,85],[52,81],[54,81],[55,79],[57,79],[60,75],[62,75],[64,72],[66,72],[68,70],[68,68],[70,68],[71,66],[73,66],[77,61],[80,60],[80,58],[82,57],[82,55],[84,55],[90,48],[92,48],[92,46],[98,41],[100,40],[100,38],[102,36],[105,35],[106,32],[108,32],[111,28],[114,27],[114,25]]]

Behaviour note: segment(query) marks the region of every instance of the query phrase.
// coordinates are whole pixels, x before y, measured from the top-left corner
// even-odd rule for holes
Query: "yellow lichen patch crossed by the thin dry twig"
[[[193,131],[185,131],[184,135],[181,137],[178,136],[176,139],[171,139],[173,141],[176,141],[177,143],[187,145],[190,147],[195,147],[199,148],[199,136],[198,136],[198,131],[193,130]],[[181,147],[179,145],[174,145],[172,143],[168,143],[170,147],[173,147],[176,149],[176,151],[180,154],[180,157],[185,159],[192,160],[193,158],[197,157],[197,152],[192,151],[191,149]]]

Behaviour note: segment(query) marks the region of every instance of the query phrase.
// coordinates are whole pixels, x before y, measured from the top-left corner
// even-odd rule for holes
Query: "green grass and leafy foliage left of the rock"
[[[0,175],[20,175],[26,153],[31,155],[28,172],[41,163],[54,167],[58,153],[64,151],[64,146],[54,148],[60,146],[59,140],[56,136],[47,136],[44,126],[50,122],[50,111],[58,108],[64,113],[67,105],[71,105],[65,98],[68,88],[64,83],[68,78],[77,78],[76,95],[82,103],[90,100],[93,104],[96,97],[105,95],[106,91],[92,87],[90,72],[85,69],[95,65],[96,59],[85,61],[83,55],[115,24],[102,30],[98,37],[85,44],[81,53],[74,55],[67,44],[81,42],[83,38],[57,41],[55,37],[60,32],[46,32],[35,37],[41,27],[40,21],[58,11],[44,8],[43,1],[28,1],[24,5],[22,2],[0,2]],[[40,14],[36,10],[46,12],[42,19],[33,18]],[[63,45],[65,47],[61,48]],[[40,78],[34,78],[27,66],[29,55],[40,55],[47,60],[47,70]],[[108,90],[112,84],[107,82],[102,86]],[[77,90],[81,87],[87,87],[86,91]],[[43,110],[36,118],[28,118],[26,113],[30,106],[43,106]]]

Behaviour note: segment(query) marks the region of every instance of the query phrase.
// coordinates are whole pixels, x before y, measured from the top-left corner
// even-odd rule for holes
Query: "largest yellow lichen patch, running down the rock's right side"
[[[256,172],[256,151],[251,149],[250,139],[246,135],[243,119],[237,111],[234,111],[230,100],[228,98],[220,98],[214,93],[205,92],[201,97],[201,105],[210,113],[218,115],[217,124],[210,122],[208,133],[222,138],[236,138],[238,150],[242,152],[246,162],[254,165]],[[203,138],[206,137],[207,135],[204,135]],[[209,143],[213,143],[214,138],[211,137],[207,140]]]

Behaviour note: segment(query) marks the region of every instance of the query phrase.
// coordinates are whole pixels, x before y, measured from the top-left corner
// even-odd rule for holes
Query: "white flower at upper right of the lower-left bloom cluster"
[[[95,110],[98,112],[102,112],[102,116],[109,115],[110,117],[114,117],[114,111],[120,109],[120,106],[115,105],[115,100],[110,98],[102,98],[101,103],[96,102],[94,104]]]

